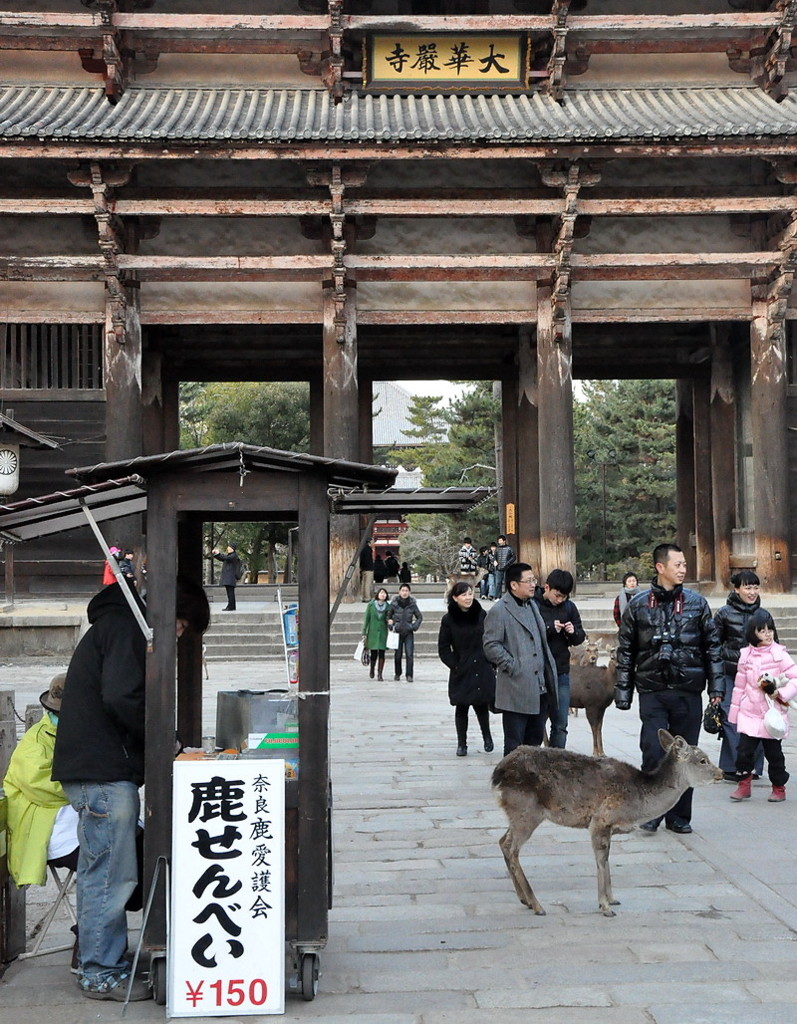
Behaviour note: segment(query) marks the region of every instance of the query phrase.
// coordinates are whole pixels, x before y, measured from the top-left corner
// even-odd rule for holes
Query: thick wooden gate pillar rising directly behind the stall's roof
[[[324,289],[324,455],[358,462],[360,400],[358,390],[356,292],[345,286],[340,304],[330,283]],[[333,516],[330,524],[330,587],[337,595],[360,543],[354,516]],[[356,573],[345,600],[359,597]]]

